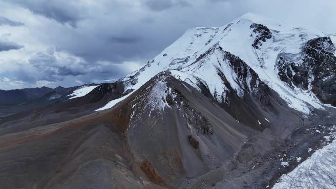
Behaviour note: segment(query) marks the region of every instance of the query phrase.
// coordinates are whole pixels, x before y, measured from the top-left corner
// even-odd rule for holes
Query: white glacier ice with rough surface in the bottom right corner
[[[301,158],[297,160],[299,162]],[[335,160],[336,140],[316,150],[293,171],[282,175],[272,189],[336,189]]]

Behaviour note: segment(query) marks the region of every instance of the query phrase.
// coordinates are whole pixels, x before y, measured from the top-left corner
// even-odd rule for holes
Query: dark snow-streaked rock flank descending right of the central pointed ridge
[[[224,73],[217,69],[217,74],[229,90],[226,94],[222,94],[220,99],[216,99],[216,101],[237,120],[242,121],[252,128],[263,129],[263,127],[268,124],[258,115],[263,114],[260,108],[268,109],[269,111],[274,110],[272,107],[273,105],[270,103],[270,99],[273,98],[271,89],[262,82],[257,73],[239,57],[227,51],[223,51],[223,53],[223,60],[232,68],[232,71],[236,76],[235,81],[240,88],[243,89],[244,96],[239,97],[234,92],[234,89],[228,82]],[[214,94],[214,96],[216,96],[216,94]],[[252,99],[258,103],[254,103]],[[242,112],[244,112],[244,114]],[[263,126],[252,124],[256,123],[257,120],[261,120]]]

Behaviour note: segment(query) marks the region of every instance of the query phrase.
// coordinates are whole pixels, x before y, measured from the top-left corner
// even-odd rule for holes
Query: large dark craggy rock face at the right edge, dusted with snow
[[[311,90],[336,106],[336,48],[329,37],[309,40],[300,54],[279,54],[279,77],[292,87]]]

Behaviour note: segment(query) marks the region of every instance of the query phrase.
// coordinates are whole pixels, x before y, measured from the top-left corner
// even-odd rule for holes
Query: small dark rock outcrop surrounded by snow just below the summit
[[[266,42],[266,39],[271,39],[272,38],[271,31],[266,26],[264,26],[262,24],[252,23],[250,25],[250,28],[252,28],[253,33],[256,34],[254,42],[252,43],[252,46],[255,49],[260,48],[260,46],[262,45],[261,42]]]

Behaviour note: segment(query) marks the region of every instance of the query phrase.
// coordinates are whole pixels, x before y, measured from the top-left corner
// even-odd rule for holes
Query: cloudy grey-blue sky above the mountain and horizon
[[[336,0],[0,0],[0,89],[113,82],[247,12],[336,33]]]

